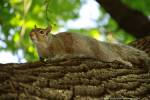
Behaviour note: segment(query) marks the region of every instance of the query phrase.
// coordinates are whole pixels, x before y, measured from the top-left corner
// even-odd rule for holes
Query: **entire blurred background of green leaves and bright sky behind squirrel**
[[[150,15],[150,0],[122,1]],[[108,42],[129,43],[134,39],[95,0],[1,0],[0,58],[9,62],[9,57],[1,53],[6,52],[17,57],[16,62],[38,60],[29,38],[34,25],[41,28],[51,25],[52,33],[78,32]]]

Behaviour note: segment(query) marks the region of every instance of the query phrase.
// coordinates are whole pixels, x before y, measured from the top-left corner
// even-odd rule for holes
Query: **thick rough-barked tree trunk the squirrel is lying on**
[[[150,73],[94,59],[0,65],[0,100],[150,99]]]

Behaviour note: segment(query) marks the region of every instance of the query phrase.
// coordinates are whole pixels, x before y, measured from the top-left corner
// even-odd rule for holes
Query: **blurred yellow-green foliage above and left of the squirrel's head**
[[[77,17],[79,0],[2,0],[0,3],[0,50],[17,54],[22,50],[27,60],[37,59],[28,33],[38,27],[56,24],[59,20]],[[74,11],[73,11],[74,10]],[[50,20],[49,20],[50,19]],[[58,24],[55,26],[57,29]]]

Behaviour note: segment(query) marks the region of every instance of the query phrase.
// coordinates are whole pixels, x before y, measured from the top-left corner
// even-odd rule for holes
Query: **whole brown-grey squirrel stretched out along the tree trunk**
[[[132,66],[146,66],[150,57],[142,50],[125,44],[113,44],[98,41],[78,33],[60,32],[49,34],[52,27],[32,29],[30,38],[37,48],[40,60],[65,55],[95,58],[104,62],[118,61]],[[66,57],[67,57],[66,56]]]

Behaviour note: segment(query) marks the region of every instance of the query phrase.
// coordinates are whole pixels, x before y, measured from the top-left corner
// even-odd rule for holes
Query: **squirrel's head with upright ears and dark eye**
[[[34,29],[30,32],[30,38],[34,43],[47,42],[48,33],[51,31],[52,27],[48,26],[46,29],[37,28],[35,26]]]

